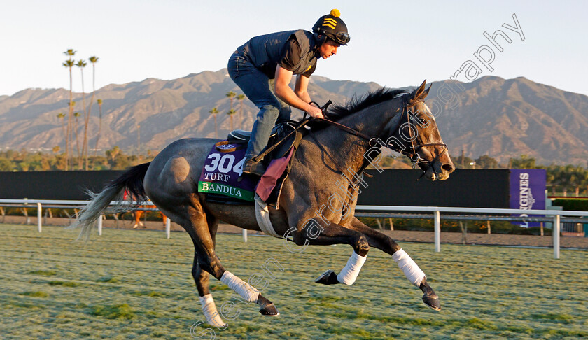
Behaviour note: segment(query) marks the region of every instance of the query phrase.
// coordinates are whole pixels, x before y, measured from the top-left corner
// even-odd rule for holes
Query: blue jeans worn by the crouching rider
[[[276,120],[279,122],[290,120],[292,109],[275,96],[274,80],[267,78],[265,73],[255,68],[248,59],[237,52],[230,57],[228,70],[231,79],[259,108],[245,152],[245,157],[255,157],[267,146]]]

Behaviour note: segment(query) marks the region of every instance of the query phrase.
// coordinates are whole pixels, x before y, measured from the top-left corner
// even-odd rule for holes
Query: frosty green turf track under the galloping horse
[[[204,316],[185,233],[105,229],[88,243],[62,227],[0,225],[0,339],[194,339]],[[279,239],[219,235],[218,256],[246,280],[274,269],[263,295],[281,316],[236,302],[216,339],[575,339],[588,337],[588,252],[442,245],[401,246],[441,297],[428,309],[391,257],[372,249],[351,287],[313,283],[344,267],[349,246],[288,252]],[[267,274],[265,274],[266,277]],[[211,279],[216,304],[231,299]],[[238,308],[238,310],[237,310]],[[209,327],[200,325],[197,332]],[[209,339],[204,336],[201,339]]]

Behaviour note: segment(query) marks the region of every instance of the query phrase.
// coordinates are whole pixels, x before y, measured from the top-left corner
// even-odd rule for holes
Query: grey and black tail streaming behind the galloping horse
[[[127,200],[128,201],[146,201],[147,196],[145,194],[145,187],[143,186],[143,180],[145,178],[145,173],[149,167],[149,163],[139,164],[135,167],[132,167],[120,177],[113,180],[109,185],[106,185],[102,192],[94,193],[91,191],[87,191],[86,193],[92,197],[92,201],[90,204],[87,204],[81,211],[78,219],[73,222],[71,225],[71,229],[80,227],[80,236],[79,239],[89,239],[90,233],[92,232],[92,227],[94,227],[94,222],[102,213],[109,208],[109,204],[111,201],[119,198],[118,201],[122,202],[125,199],[123,198],[123,192],[127,191]],[[130,204],[117,204],[114,207],[111,207],[109,210],[114,212],[123,212],[128,211],[133,206]]]

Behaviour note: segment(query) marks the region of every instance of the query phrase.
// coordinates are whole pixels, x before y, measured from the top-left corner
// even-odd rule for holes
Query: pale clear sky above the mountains
[[[315,75],[388,87],[454,76],[516,78],[588,95],[588,1],[3,1],[0,95],[29,87],[69,88],[63,52],[97,56],[95,87],[146,78],[170,80],[227,66],[253,36],[311,30],[338,8],[351,41],[320,60]],[[519,24],[514,21],[513,14]],[[503,27],[522,31],[522,34]],[[500,52],[484,32],[500,36]],[[524,40],[523,40],[524,36]],[[484,47],[486,46],[486,47]],[[480,50],[481,49],[481,50]],[[484,66],[475,57],[491,62]],[[493,56],[492,56],[493,55]],[[460,67],[468,60],[470,80]],[[490,71],[491,69],[491,71]],[[80,92],[80,70],[73,89]],[[477,74],[476,74],[477,73]],[[92,90],[92,66],[84,69]]]

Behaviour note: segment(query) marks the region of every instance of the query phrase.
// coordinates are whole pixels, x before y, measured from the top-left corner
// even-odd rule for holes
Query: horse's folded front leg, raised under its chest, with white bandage
[[[316,283],[323,283],[324,285],[337,283],[352,285],[367,258],[367,252],[370,250],[367,239],[362,233],[347,229],[336,223],[326,225],[322,220],[316,221],[313,219],[296,231],[290,232],[287,236],[292,236],[293,241],[298,246],[349,244],[353,247],[353,254],[339,274],[328,270],[315,280]]]

